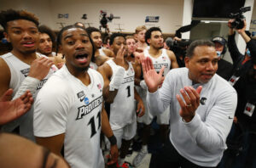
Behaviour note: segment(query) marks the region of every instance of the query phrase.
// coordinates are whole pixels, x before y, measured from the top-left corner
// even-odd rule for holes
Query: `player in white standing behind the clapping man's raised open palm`
[[[170,50],[163,49],[164,47],[164,39],[160,28],[151,27],[146,31],[145,40],[149,45],[149,49],[144,49],[144,56],[152,59],[154,64],[154,69],[159,73],[162,66],[165,66],[164,76],[168,73],[168,71],[172,68],[178,68],[177,60],[174,53]],[[143,81],[142,81],[143,83]],[[141,84],[143,87],[143,84]],[[147,87],[143,87],[145,90]],[[145,98],[146,92],[144,92]],[[145,100],[145,99],[144,99]],[[154,116],[150,114],[150,109],[148,109],[148,113],[146,113],[143,117],[138,118],[138,122],[143,123],[143,147],[141,151],[137,154],[137,156],[133,160],[133,165],[138,166],[142,162],[143,158],[148,154],[148,138],[150,132],[150,124],[154,119]],[[160,125],[160,135],[162,143],[165,143],[167,135],[168,135],[168,125],[169,125],[169,109],[161,114],[157,115],[157,123]]]

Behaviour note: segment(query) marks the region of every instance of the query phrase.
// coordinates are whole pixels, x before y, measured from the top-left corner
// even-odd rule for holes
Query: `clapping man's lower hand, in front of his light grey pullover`
[[[195,110],[200,105],[201,89],[201,86],[197,87],[196,90],[193,87],[184,87],[180,89],[184,101],[180,95],[176,95],[177,101],[181,107],[179,115],[186,122],[189,122],[195,116]]]

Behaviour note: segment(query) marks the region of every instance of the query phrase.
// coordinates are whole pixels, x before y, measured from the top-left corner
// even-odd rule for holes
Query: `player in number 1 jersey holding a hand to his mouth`
[[[105,81],[103,96],[110,104],[109,122],[113,134],[117,137],[120,156],[117,167],[129,167],[125,163],[125,155],[131,145],[131,140],[136,134],[137,121],[135,99],[138,102],[137,115],[144,114],[143,100],[134,89],[134,76],[136,71],[131,62],[126,60],[125,37],[119,33],[113,33],[110,37],[114,58],[99,67]]]

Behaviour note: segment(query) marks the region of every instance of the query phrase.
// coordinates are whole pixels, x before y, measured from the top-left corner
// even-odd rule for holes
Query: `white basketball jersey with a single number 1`
[[[116,71],[117,64],[112,59],[107,63],[112,68],[113,74]],[[110,104],[109,123],[113,130],[122,128],[127,124],[131,124],[136,120],[135,100],[134,100],[134,69],[131,62],[128,63],[129,68],[125,70],[124,80],[119,87],[119,91],[113,99],[113,104]],[[112,80],[112,77],[110,81]]]

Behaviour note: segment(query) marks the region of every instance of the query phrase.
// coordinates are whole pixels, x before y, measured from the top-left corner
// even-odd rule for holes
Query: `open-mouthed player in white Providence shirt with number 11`
[[[100,73],[89,68],[94,57],[93,42],[85,29],[68,25],[60,31],[57,42],[66,57],[58,70],[38,93],[34,111],[37,143],[61,155],[71,167],[104,168],[100,148],[101,131],[111,143],[113,164],[118,158],[116,138],[104,109]]]

